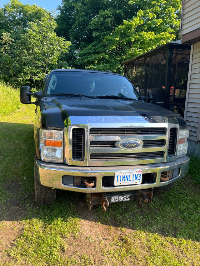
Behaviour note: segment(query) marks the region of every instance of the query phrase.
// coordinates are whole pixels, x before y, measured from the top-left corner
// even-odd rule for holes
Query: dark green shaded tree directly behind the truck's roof
[[[56,32],[58,36],[72,42],[64,60],[75,68],[84,68],[76,61],[78,52],[87,48],[98,36],[101,36],[98,39],[101,41],[103,36],[112,32],[126,17],[131,18],[135,7],[129,4],[129,0],[63,0],[58,9],[60,13],[56,17]],[[97,23],[91,24],[92,22]]]

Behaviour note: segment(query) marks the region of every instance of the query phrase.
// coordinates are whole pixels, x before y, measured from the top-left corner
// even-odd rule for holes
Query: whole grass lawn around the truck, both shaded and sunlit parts
[[[100,206],[58,191],[34,202],[35,105],[0,116],[0,265],[200,265],[200,160],[153,204]]]

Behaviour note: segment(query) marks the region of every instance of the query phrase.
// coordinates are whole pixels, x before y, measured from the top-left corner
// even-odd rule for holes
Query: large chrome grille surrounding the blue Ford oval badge
[[[165,117],[153,117],[148,121],[139,118],[71,116],[70,126],[65,127],[66,164],[96,167],[175,160],[175,156],[168,156],[168,148],[170,152],[173,147],[173,135],[170,138],[169,133],[171,127],[178,128],[178,125]],[[138,140],[143,145],[135,149],[121,148],[120,143],[128,140]]]

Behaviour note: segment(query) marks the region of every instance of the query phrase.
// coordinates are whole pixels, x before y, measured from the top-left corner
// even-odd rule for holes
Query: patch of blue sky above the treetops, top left
[[[3,7],[3,4],[7,4],[9,1],[7,0],[0,0],[0,7]],[[56,8],[58,7],[58,5],[61,5],[62,0],[21,0],[20,2],[22,2],[22,4],[26,5],[38,5],[40,7],[43,7],[44,9],[48,10],[48,11],[52,11],[54,10],[55,13],[58,14],[58,11],[56,10]]]

